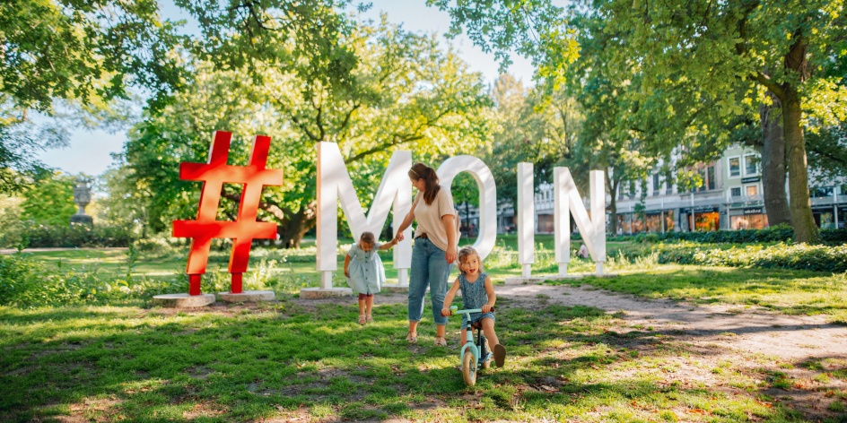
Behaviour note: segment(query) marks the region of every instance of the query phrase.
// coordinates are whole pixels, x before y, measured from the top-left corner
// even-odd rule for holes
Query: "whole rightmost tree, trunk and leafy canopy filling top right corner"
[[[654,91],[685,77],[701,84],[698,92],[720,113],[736,117],[745,113],[745,102],[762,99],[765,90],[779,99],[795,238],[818,242],[804,132],[814,120],[844,118],[837,105],[847,99],[841,85],[847,53],[836,47],[847,30],[843,2],[596,4],[611,25],[634,29],[627,54],[643,61]],[[804,111],[816,119],[804,119]]]

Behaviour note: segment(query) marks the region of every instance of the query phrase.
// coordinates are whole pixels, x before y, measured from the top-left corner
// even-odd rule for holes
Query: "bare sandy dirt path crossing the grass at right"
[[[510,298],[514,306],[537,306],[539,302],[563,306],[594,306],[624,320],[618,333],[651,331],[662,341],[684,345],[692,354],[679,358],[671,379],[677,384],[704,384],[712,389],[744,391],[720,383],[712,372],[732,363],[761,381],[783,377],[785,388],[761,393],[798,410],[806,419],[838,419],[827,410],[834,390],[847,384],[825,375],[827,361],[847,360],[847,327],[828,324],[819,315],[781,315],[761,307],[693,305],[668,299],[644,299],[595,288],[551,285],[498,287],[497,295]],[[688,364],[695,360],[698,366]],[[784,375],[784,376],[780,376]]]

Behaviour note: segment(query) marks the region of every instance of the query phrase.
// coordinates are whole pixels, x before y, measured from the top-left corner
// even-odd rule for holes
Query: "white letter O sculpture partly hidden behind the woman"
[[[460,172],[470,173],[479,187],[479,235],[476,237],[474,249],[480,259],[485,259],[497,240],[497,186],[494,185],[491,169],[485,166],[483,160],[474,156],[456,156],[444,160],[438,168],[441,186],[446,186],[450,191],[453,178]]]

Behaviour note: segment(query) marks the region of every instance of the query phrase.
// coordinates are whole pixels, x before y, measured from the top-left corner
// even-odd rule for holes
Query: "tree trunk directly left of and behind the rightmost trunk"
[[[768,225],[791,222],[788,196],[785,193],[785,138],[782,136],[780,100],[768,92],[772,106],[761,106],[762,125],[762,189]]]

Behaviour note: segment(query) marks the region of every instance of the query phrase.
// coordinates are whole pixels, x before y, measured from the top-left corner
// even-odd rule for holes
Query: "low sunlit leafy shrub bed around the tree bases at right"
[[[658,244],[653,246],[653,250],[659,253],[659,263],[847,272],[847,245],[808,246],[780,242],[773,245],[709,246],[679,242]]]

